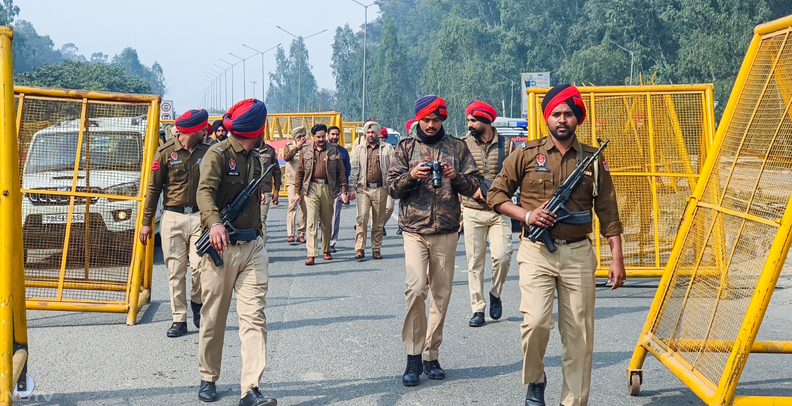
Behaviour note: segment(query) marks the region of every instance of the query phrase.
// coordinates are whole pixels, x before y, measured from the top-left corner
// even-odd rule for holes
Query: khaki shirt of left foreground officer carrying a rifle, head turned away
[[[211,146],[200,165],[196,195],[204,229],[220,222],[220,211],[258,176],[261,176],[261,157],[257,150],[246,152],[234,137]],[[261,230],[261,196],[254,193],[231,225]]]

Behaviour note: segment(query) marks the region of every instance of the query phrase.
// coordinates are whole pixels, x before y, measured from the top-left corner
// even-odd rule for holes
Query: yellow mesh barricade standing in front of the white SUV
[[[28,309],[137,313],[160,97],[15,86]],[[151,244],[149,244],[151,245]]]

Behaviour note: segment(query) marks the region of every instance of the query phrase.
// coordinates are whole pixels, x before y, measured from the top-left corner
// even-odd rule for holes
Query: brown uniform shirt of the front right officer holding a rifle
[[[553,197],[555,189],[569,177],[577,167],[578,151],[583,158],[591,157],[596,148],[582,144],[577,140],[572,148],[562,156],[550,138],[545,137],[528,141],[522,148],[517,148],[506,158],[503,170],[495,178],[493,187],[489,189],[487,203],[489,207],[512,199],[512,195],[520,188],[520,199],[525,210],[532,211]],[[594,165],[599,165],[594,170]],[[594,173],[598,174],[599,191],[594,195]],[[600,157],[590,166],[569,196],[565,206],[570,211],[596,211],[600,219],[600,234],[611,237],[622,233],[622,222],[619,221],[619,206],[613,188],[611,173],[608,172],[607,161]],[[525,223],[523,223],[525,226]],[[592,223],[568,224],[557,222],[550,229],[550,238],[572,240],[585,237],[592,232]]]

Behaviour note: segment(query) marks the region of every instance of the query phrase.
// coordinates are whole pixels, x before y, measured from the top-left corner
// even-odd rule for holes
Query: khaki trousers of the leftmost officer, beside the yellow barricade
[[[170,313],[174,323],[187,321],[187,264],[192,275],[190,300],[201,302],[201,284],[196,252],[196,242],[200,238],[200,214],[183,214],[175,211],[162,211],[160,219],[160,239],[162,256],[168,268],[168,289],[170,291]]]

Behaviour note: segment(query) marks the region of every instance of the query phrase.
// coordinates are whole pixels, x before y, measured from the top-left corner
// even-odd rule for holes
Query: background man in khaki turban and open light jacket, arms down
[[[387,173],[394,148],[379,139],[379,123],[366,130],[366,145],[357,145],[352,151],[352,175],[349,176],[351,199],[357,199],[357,225],[355,226],[355,259],[364,258],[368,216],[371,213],[371,256],[382,260],[383,230],[386,222]]]

